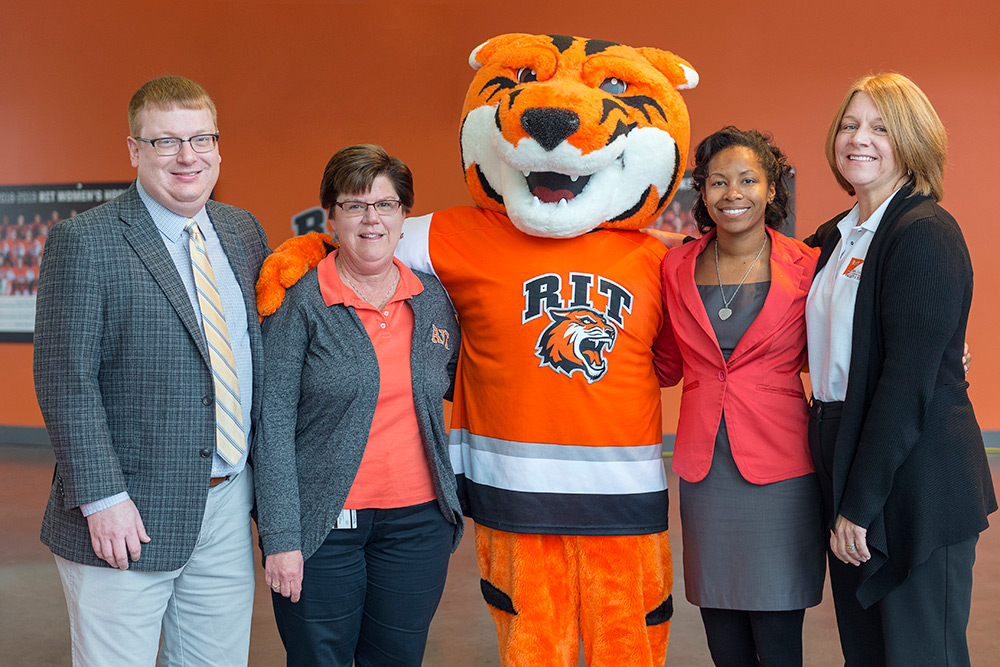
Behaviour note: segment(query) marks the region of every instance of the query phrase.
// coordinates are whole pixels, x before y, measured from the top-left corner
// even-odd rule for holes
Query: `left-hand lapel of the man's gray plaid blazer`
[[[181,282],[181,277],[177,273],[177,267],[170,259],[170,253],[163,245],[160,232],[156,229],[156,224],[149,216],[149,211],[146,210],[146,206],[139,198],[135,187],[135,183],[133,183],[122,199],[122,211],[119,217],[125,225],[125,240],[132,246],[136,255],[146,265],[153,279],[163,290],[167,301],[173,306],[177,316],[184,324],[184,328],[194,339],[205,363],[211,366],[205,337],[201,333],[201,327],[198,326],[198,320],[194,314],[194,307],[191,306],[191,300],[188,298],[187,290],[184,289],[184,283]]]

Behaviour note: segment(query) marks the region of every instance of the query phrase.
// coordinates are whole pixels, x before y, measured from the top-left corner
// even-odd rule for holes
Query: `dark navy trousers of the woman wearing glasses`
[[[417,667],[455,527],[436,500],[363,509],[305,562],[298,602],[272,591],[289,667]]]

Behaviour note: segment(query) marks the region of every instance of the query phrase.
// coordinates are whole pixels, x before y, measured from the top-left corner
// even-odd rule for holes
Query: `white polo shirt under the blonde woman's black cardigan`
[[[837,223],[840,243],[809,289],[806,299],[809,376],[813,396],[821,401],[842,401],[847,396],[858,284],[875,230],[896,192],[864,222],[858,224],[861,214],[855,204]]]

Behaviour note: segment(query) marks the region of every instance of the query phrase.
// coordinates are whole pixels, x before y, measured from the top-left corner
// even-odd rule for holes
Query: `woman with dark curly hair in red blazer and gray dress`
[[[664,385],[684,378],[684,582],[716,665],[801,665],[805,608],[822,597],[825,535],[800,372],[818,251],[775,230],[790,168],[756,131],[701,142],[705,234],[663,261]],[[672,336],[670,335],[672,333]]]

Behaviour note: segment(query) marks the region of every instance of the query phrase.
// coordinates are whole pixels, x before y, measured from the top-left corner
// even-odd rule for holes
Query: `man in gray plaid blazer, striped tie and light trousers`
[[[267,239],[209,196],[215,106],[178,76],[129,104],[136,182],[45,244],[35,390],[56,454],[42,541],[76,665],[245,665]]]

